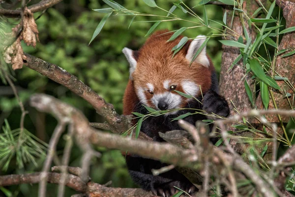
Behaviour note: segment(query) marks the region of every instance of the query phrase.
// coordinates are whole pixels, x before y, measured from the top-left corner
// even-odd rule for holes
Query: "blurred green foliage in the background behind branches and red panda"
[[[29,4],[35,2],[35,0],[32,0]],[[149,7],[142,0],[118,0],[117,2],[130,10],[156,15],[167,14],[160,9]],[[171,8],[173,2],[178,1],[156,0],[158,6],[166,10]],[[189,7],[193,7],[199,2],[200,0],[185,1]],[[128,63],[121,50],[126,46],[137,49],[147,39],[145,35],[154,22],[139,23],[139,21],[159,20],[159,18],[137,16],[128,30],[132,16],[115,16],[113,14],[101,33],[88,45],[95,28],[105,15],[92,9],[106,7],[109,6],[101,0],[64,0],[47,9],[36,21],[40,39],[36,48],[26,45],[23,45],[23,47],[25,52],[46,62],[56,64],[76,75],[107,102],[114,104],[115,109],[120,114],[122,112],[123,93],[129,76]],[[209,19],[222,23],[221,7],[206,5],[206,9]],[[194,8],[194,11],[201,18],[203,17],[202,6]],[[194,17],[184,14],[180,9],[176,9],[174,13],[181,18],[196,21]],[[34,14],[35,18],[39,15],[40,13]],[[18,23],[15,19],[9,19],[9,21],[12,24]],[[193,26],[193,24],[185,21],[165,22],[161,23],[157,30],[169,29],[172,31],[190,26]],[[207,28],[196,28],[188,29],[183,34],[192,38],[210,32]],[[218,39],[220,38],[211,38],[208,41],[207,53],[219,72],[222,51]],[[103,119],[86,101],[38,72],[24,66],[15,71],[14,77],[20,97],[24,101],[26,110],[29,111],[25,119],[25,128],[39,139],[48,143],[57,121],[51,115],[37,112],[29,106],[28,99],[33,93],[52,95],[82,110],[90,122],[103,122]],[[0,90],[0,127],[4,125],[4,119],[7,119],[11,129],[17,129],[21,115],[17,100],[14,98],[11,88],[1,82]],[[55,161],[61,160],[64,144],[64,137],[61,137],[57,149],[58,157],[55,158]],[[112,181],[110,187],[136,187],[128,175],[124,157],[121,156],[119,151],[98,147],[97,150],[102,153],[102,157],[93,158],[91,162],[90,177],[94,182],[105,184]],[[79,148],[74,146],[69,165],[79,166],[81,154]],[[16,166],[15,159],[12,159],[8,170],[0,170],[0,174],[40,171],[42,162],[43,159],[40,158],[37,160],[38,166],[26,163],[24,168],[19,168]],[[5,188],[11,192],[6,192],[8,195],[34,197],[37,196],[38,185],[24,184]],[[48,196],[55,197],[57,186],[49,184],[48,188],[51,188],[47,190]],[[1,190],[4,191],[3,188]],[[73,190],[66,190],[66,196],[72,194],[75,194]],[[4,196],[1,192],[0,195]]]

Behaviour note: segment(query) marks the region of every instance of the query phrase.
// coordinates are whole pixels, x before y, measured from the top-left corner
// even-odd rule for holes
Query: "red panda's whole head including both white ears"
[[[130,63],[130,79],[141,103],[157,110],[183,108],[190,99],[175,90],[200,97],[211,85],[211,68],[204,47],[190,65],[205,38],[188,42],[174,57],[171,49],[181,36],[167,42],[170,35],[154,33],[139,51],[124,48]]]

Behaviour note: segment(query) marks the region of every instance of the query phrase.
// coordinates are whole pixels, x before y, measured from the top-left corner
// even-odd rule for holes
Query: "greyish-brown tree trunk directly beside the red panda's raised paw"
[[[262,3],[266,3],[266,0],[263,0]],[[248,14],[252,15],[253,12],[259,7],[259,4],[255,2],[254,0],[244,0],[243,3],[243,10]],[[227,26],[232,27],[232,30],[236,32],[238,35],[243,35],[243,24],[240,18],[240,15],[235,12],[235,16],[232,23],[232,16],[233,16],[233,10],[225,10],[227,12]],[[252,39],[252,42],[255,40],[256,33],[254,28],[249,28],[247,19],[244,18],[244,25],[245,28],[249,34],[249,36]],[[227,33],[232,34],[231,31],[227,31]],[[232,36],[227,36],[226,39],[233,39]],[[238,37],[234,37],[235,40],[238,39]],[[237,63],[236,66],[234,66],[232,69],[230,67],[232,66],[232,63],[236,60],[238,55],[240,54],[239,48],[237,47],[231,47],[231,46],[222,46],[223,54],[222,54],[222,64],[221,64],[221,72],[220,72],[220,79],[219,79],[219,87],[220,87],[220,93],[227,99],[229,102],[229,106],[231,109],[231,115],[236,114],[236,111],[234,110],[234,107],[238,110],[238,112],[245,112],[252,109],[252,104],[247,96],[245,86],[244,86],[244,80],[246,79],[250,88],[254,89],[254,81],[251,79],[251,76],[248,74],[245,78],[243,78],[246,74],[246,70],[243,69],[243,63],[242,60]],[[253,94],[253,97],[255,97],[255,94]],[[254,98],[253,98],[254,99]],[[234,105],[232,104],[234,103]],[[228,125],[228,130],[235,131],[235,128],[232,128]],[[247,137],[257,137],[254,136],[251,132],[238,132],[237,135],[247,136]],[[230,141],[232,147],[234,150],[238,153],[242,153],[243,150],[239,144],[236,143],[236,140],[232,139]]]

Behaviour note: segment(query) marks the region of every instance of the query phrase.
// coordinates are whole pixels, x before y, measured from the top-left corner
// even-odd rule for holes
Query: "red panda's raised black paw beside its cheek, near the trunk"
[[[209,90],[202,100],[203,110],[208,114],[216,114],[222,117],[230,115],[230,108],[226,99],[218,95],[216,92]]]

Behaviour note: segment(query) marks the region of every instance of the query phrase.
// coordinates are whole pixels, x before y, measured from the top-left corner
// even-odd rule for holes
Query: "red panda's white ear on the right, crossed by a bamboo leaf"
[[[194,58],[195,54],[197,53],[198,49],[204,43],[206,39],[205,35],[198,35],[189,45],[185,58],[191,62]],[[206,45],[202,49],[201,53],[196,57],[194,62],[199,63],[203,66],[209,67],[210,63],[206,55]]]

